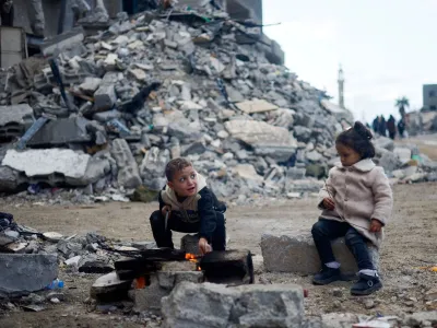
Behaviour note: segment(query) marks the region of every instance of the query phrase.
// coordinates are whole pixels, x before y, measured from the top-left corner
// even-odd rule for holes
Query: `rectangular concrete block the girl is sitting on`
[[[344,238],[332,243],[336,260],[344,273],[356,273],[356,261],[344,243]],[[321,269],[319,255],[310,234],[299,236],[261,236],[261,250],[268,271],[315,274]],[[379,269],[379,253],[369,246],[374,265]]]

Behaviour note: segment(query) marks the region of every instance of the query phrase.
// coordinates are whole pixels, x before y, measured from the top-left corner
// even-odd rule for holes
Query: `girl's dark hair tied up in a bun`
[[[361,121],[336,137],[335,143],[341,143],[356,151],[362,160],[375,157],[375,147],[371,143],[374,136]]]

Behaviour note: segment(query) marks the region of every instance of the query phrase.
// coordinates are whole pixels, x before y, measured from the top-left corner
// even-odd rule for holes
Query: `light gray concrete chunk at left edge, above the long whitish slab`
[[[34,110],[27,104],[0,106],[0,138],[23,136],[34,120]]]

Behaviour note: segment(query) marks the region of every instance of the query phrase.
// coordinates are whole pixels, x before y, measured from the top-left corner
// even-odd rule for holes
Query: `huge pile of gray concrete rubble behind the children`
[[[47,42],[46,56],[62,50],[67,93],[56,62],[43,59],[1,80],[0,112],[14,115],[1,120],[0,134],[22,137],[0,152],[2,191],[43,184],[85,188],[85,201],[151,200],[165,185],[165,163],[182,155],[218,197],[317,192],[335,161],[341,124],[353,117],[271,63],[257,36],[258,27],[222,11],[172,9],[121,13],[105,32]],[[31,129],[29,116],[37,119]],[[389,173],[405,164],[390,151],[379,149]],[[424,165],[415,180],[428,178],[432,163]]]

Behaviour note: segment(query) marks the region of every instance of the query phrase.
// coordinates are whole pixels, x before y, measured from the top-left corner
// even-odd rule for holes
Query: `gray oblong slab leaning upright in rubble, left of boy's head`
[[[128,142],[125,139],[114,140],[110,153],[117,162],[118,184],[125,188],[139,187],[142,184],[140,171]]]

